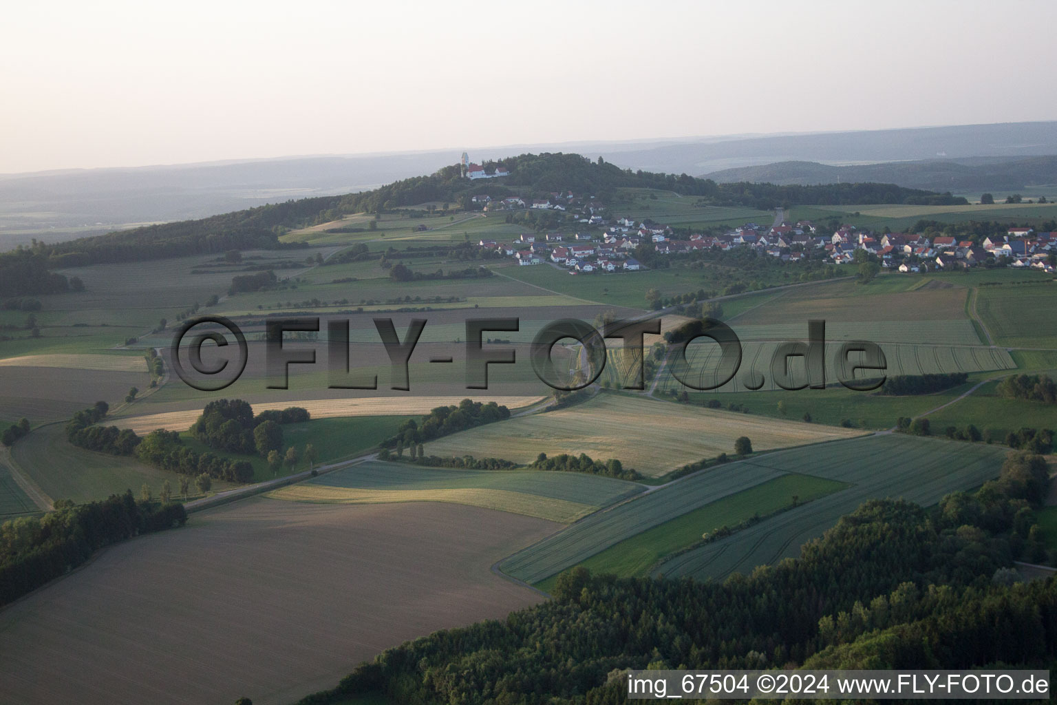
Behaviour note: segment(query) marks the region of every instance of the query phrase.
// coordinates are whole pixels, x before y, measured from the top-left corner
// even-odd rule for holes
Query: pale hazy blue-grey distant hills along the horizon
[[[463,149],[0,174],[0,251],[29,243],[32,238],[57,242],[144,222],[205,218],[288,199],[368,190],[455,164]],[[983,162],[973,163],[970,157],[984,154],[1025,160],[1057,154],[1057,122],[507,145],[470,147],[467,151],[481,164],[508,154],[563,152],[592,160],[601,156],[622,168],[673,174],[707,174],[789,161],[851,164],[944,160],[944,164],[981,166]],[[946,181],[925,182],[880,175],[841,175],[840,180],[968,192],[979,190],[981,183],[969,182],[971,186],[962,187],[949,175]],[[778,183],[827,181],[836,182],[837,178],[810,177],[803,182]],[[1052,179],[1040,182],[1033,178],[1028,183],[1032,181],[1054,183]],[[994,183],[987,187],[1001,188]]]

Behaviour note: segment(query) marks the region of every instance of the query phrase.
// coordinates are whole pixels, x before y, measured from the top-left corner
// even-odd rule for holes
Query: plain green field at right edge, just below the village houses
[[[1057,348],[1057,284],[981,286],[977,312],[1000,346]]]

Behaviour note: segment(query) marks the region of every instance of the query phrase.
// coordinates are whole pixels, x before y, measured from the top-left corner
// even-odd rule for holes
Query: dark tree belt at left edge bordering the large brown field
[[[55,502],[42,517],[0,525],[0,605],[77,568],[99,549],[172,526],[183,526],[183,504],[137,502],[132,490],[74,505]]]

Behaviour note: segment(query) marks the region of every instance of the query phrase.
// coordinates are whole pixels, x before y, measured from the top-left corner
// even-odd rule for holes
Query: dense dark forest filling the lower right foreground
[[[797,559],[722,582],[563,574],[553,599],[383,652],[301,705],[381,692],[398,703],[624,703],[625,669],[1057,665],[1057,579],[1036,555],[1046,465],[933,508],[873,500]]]

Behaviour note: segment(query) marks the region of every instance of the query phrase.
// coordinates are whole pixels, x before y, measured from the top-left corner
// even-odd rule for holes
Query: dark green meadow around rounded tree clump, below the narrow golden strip
[[[290,468],[285,464],[274,474],[267,466],[267,461],[260,456],[216,450],[197,440],[190,433],[182,433],[184,443],[192,450],[203,453],[211,452],[222,458],[248,460],[254,466],[254,482],[263,482],[276,477],[285,477],[294,472],[309,469],[304,459],[304,446],[309,443],[318,454],[316,465],[333,463],[355,456],[360,456],[388,439],[402,423],[414,416],[345,416],[335,419],[314,419],[302,424],[284,424],[282,427],[283,447],[297,448],[297,464]],[[281,454],[281,453],[280,453]]]

